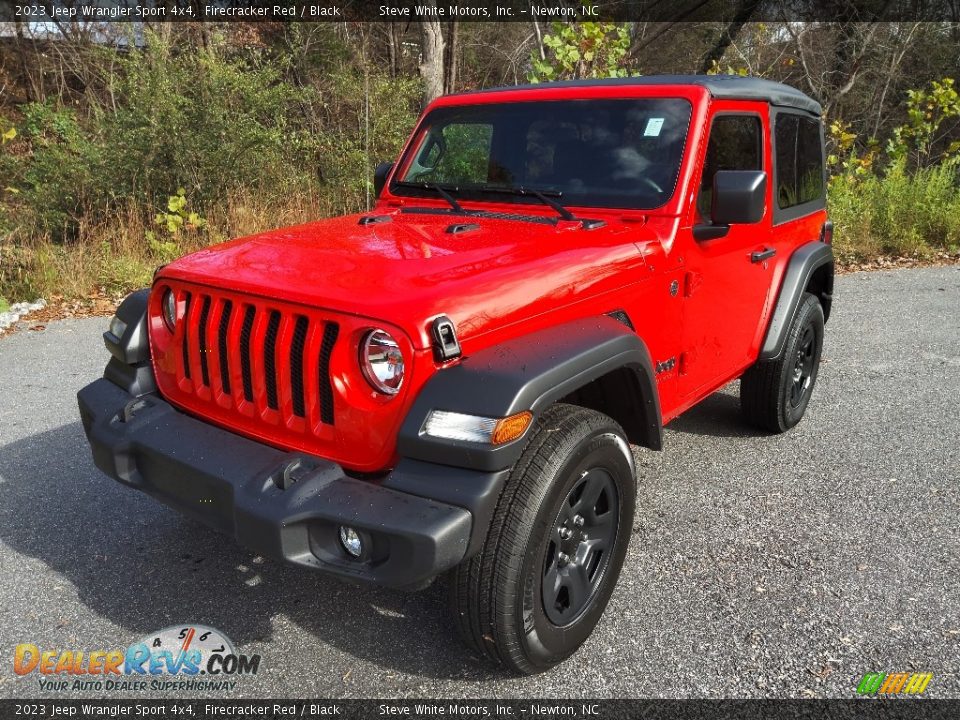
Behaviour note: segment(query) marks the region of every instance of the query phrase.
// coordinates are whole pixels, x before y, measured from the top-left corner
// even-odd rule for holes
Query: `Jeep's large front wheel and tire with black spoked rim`
[[[573,405],[544,411],[483,547],[452,571],[450,606],[466,644],[527,675],[576,652],[620,575],[635,503],[620,426]]]

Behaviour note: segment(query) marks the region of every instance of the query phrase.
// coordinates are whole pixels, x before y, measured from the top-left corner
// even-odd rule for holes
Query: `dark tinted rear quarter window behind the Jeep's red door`
[[[820,123],[781,113],[774,131],[777,153],[777,205],[780,209],[823,197]]]

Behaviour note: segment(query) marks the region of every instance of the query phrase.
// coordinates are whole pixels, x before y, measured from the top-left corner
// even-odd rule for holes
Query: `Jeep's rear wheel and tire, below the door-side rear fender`
[[[786,432],[806,412],[820,370],[823,308],[804,293],[777,360],[758,361],[740,379],[740,408],[751,425]]]

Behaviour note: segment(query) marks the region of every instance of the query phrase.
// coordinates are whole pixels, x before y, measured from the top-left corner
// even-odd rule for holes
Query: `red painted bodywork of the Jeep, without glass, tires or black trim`
[[[469,356],[541,328],[625,310],[655,363],[680,360],[657,376],[664,422],[737,377],[757,357],[792,248],[815,239],[826,219],[821,212],[774,231],[768,210],[761,223],[733,227],[724,238],[694,240],[696,188],[710,118],[730,109],[756,112],[769,137],[766,104],[711,101],[702,87],[638,85],[455,96],[432,107],[599,97],[691,102],[679,179],[665,205],[652,211],[571,208],[578,216],[606,223],[589,230],[569,221],[546,225],[470,218],[478,229],[451,234],[445,230],[461,221],[457,216],[401,212],[410,206],[446,210],[445,202],[399,197],[385,188],[374,212],[391,215],[390,222],[360,225],[361,216],[351,215],[201,250],[166,266],[155,279],[148,315],[160,392],[223,427],[374,472],[395,462],[399,425],[419,389],[439,370],[429,332],[441,314],[453,320]],[[417,141],[421,124],[408,144]],[[764,147],[769,170],[769,142]],[[772,193],[773,183],[768,185]],[[462,205],[555,217],[536,201],[464,200]],[[773,260],[762,266],[750,262],[752,251],[771,243],[778,251]],[[671,291],[674,283],[677,293]],[[184,310],[186,294],[192,298],[174,333],[161,316],[161,294],[168,287]],[[232,312],[221,323],[227,301]],[[248,307],[253,319],[244,340],[242,314]],[[298,336],[298,322],[308,328],[305,336]],[[327,368],[333,419],[324,422],[325,381],[316,363],[330,325],[337,328]],[[374,392],[359,369],[359,345],[371,328],[390,332],[406,358],[403,387],[392,398]],[[186,351],[184,332],[191,333]],[[225,355],[218,352],[221,341]],[[251,353],[251,400],[244,396],[242,342],[256,349]],[[293,383],[298,369],[293,358],[301,345],[307,358],[302,388]],[[271,373],[261,352],[274,347],[276,408],[263,381]],[[223,364],[229,367],[221,372]],[[295,403],[301,393],[303,417]]]

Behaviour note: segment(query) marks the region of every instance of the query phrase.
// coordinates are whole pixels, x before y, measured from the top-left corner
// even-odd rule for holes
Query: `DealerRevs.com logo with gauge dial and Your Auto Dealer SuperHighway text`
[[[239,654],[230,639],[204,625],[175,625],[125,649],[42,650],[17,645],[13,671],[36,674],[40,689],[230,691],[237,676],[256,675],[259,655]]]

